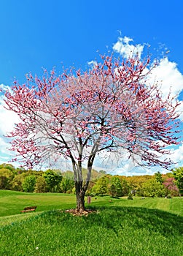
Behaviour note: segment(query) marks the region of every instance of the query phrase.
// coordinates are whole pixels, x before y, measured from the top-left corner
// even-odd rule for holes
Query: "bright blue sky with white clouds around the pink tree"
[[[24,82],[28,72],[41,75],[42,67],[55,67],[59,72],[63,65],[74,64],[85,69],[88,61],[98,57],[97,51],[113,49],[122,54],[120,43],[125,50],[128,45],[148,43],[152,58],[162,58],[162,52],[170,50],[156,75],[167,71],[163,77],[166,91],[167,80],[171,81],[168,75],[173,74],[173,93],[179,93],[182,100],[182,17],[182,0],[0,0],[0,85],[11,86],[15,77]],[[133,41],[122,41],[125,37]],[[9,159],[3,135],[16,118],[0,108],[0,121],[1,163]],[[182,161],[182,148],[172,149],[175,159]],[[136,172],[139,170],[127,174]]]

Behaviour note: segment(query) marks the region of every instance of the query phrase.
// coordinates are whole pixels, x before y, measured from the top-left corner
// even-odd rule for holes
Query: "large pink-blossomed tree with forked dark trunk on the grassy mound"
[[[70,159],[74,171],[77,210],[84,197],[96,156],[128,154],[139,165],[168,167],[166,146],[176,144],[177,102],[163,99],[157,85],[146,83],[149,59],[138,56],[114,59],[102,56],[86,72],[69,71],[42,79],[15,81],[5,96],[6,108],[20,117],[12,137],[12,150],[28,167],[48,159]],[[17,159],[15,159],[17,160]],[[87,178],[82,165],[87,165]]]

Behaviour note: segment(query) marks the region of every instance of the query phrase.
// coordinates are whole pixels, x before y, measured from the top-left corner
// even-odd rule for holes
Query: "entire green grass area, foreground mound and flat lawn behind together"
[[[0,190],[0,255],[182,256],[183,198],[93,197],[86,206],[96,212],[87,217],[60,211],[75,201],[74,195]],[[36,212],[20,214],[32,205]]]

